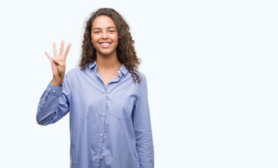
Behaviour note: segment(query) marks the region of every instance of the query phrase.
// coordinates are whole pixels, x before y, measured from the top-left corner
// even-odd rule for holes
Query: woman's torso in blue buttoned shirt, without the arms
[[[134,106],[139,106],[146,80],[134,83],[131,74],[125,68],[122,70],[126,74],[99,72],[93,67],[84,71],[76,67],[67,73],[64,85],[70,92],[72,167],[92,167],[93,164],[140,167],[132,111],[136,109]],[[145,79],[143,74],[140,76]],[[99,160],[99,155],[92,151],[101,151],[104,159]]]

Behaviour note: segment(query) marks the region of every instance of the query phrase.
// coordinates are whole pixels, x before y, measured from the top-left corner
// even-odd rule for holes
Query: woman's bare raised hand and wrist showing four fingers
[[[67,59],[67,54],[69,53],[69,48],[71,48],[71,43],[67,45],[67,49],[64,52],[64,40],[62,40],[59,55],[57,55],[56,43],[53,43],[54,57],[51,57],[48,54],[48,52],[45,52],[52,66],[52,71],[53,71],[52,85],[61,86],[64,81],[64,73],[66,71],[66,59]]]

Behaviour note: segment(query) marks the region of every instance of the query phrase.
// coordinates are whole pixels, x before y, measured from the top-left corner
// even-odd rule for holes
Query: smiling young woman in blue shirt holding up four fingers
[[[39,102],[40,125],[69,112],[71,167],[154,167],[146,77],[122,16],[100,8],[86,22],[79,66],[65,74],[64,41],[50,59],[53,80]],[[63,54],[64,52],[64,54]]]

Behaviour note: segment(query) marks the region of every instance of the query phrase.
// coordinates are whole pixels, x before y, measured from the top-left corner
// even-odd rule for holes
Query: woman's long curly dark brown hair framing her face
[[[81,66],[81,71],[88,68],[90,62],[94,62],[97,59],[97,52],[92,45],[92,22],[100,15],[106,15],[110,17],[114,22],[118,30],[118,46],[116,48],[117,57],[121,64],[124,64],[126,69],[131,73],[134,83],[140,83],[141,78],[139,76],[139,64],[141,59],[137,57],[134,49],[134,40],[130,34],[130,27],[116,10],[112,8],[99,8],[90,15],[87,21],[85,21],[85,32],[83,36],[82,54],[79,60],[78,66]]]

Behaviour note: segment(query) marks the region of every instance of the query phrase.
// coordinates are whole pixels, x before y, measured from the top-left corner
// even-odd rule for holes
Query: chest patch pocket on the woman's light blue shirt
[[[132,97],[114,99],[109,114],[118,120],[131,120],[134,99]]]

